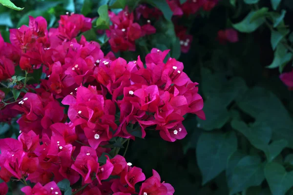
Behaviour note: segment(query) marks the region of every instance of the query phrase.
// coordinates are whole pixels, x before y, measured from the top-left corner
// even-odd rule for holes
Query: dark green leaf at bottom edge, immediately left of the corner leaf
[[[232,174],[230,195],[241,192],[251,186],[258,186],[264,180],[264,164],[259,156],[243,157]]]

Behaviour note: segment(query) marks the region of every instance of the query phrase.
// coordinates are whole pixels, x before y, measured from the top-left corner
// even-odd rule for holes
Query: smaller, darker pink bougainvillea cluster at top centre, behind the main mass
[[[150,24],[150,20],[147,20],[143,26],[134,22],[134,15],[132,12],[128,12],[127,7],[118,15],[109,12],[109,17],[112,25],[110,30],[106,31],[106,34],[113,52],[135,51],[136,39],[156,32],[155,27]]]

